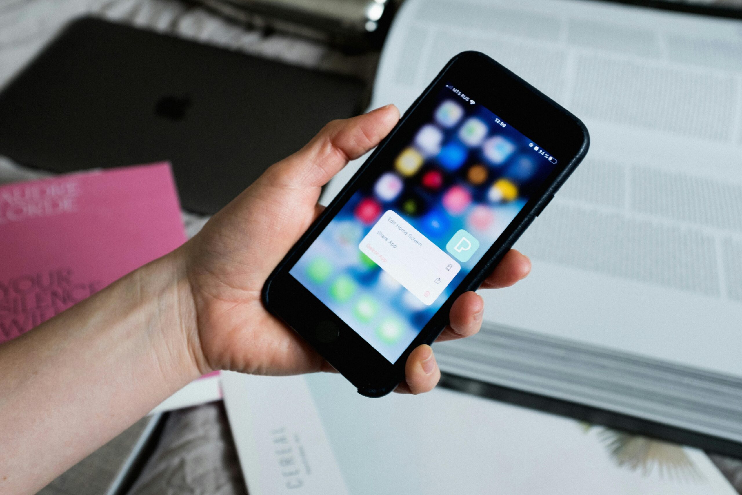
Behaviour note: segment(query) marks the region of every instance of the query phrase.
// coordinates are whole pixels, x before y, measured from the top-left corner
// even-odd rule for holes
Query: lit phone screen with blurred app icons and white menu
[[[289,271],[391,363],[558,159],[452,84],[416,122]]]

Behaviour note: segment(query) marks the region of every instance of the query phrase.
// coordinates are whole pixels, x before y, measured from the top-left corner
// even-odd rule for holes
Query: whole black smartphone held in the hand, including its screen
[[[359,393],[384,396],[588,144],[548,96],[483,53],[459,53],[283,258],[263,303]]]

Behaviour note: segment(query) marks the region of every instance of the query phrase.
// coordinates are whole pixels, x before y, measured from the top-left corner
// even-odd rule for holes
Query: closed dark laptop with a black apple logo
[[[183,207],[213,213],[364,83],[83,18],[0,94],[0,154],[55,172],[170,160]]]

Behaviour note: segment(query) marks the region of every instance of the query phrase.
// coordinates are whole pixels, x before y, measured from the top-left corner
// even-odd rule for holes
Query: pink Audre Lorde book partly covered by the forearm
[[[185,239],[169,163],[0,186],[0,344]],[[219,399],[214,378],[160,410]]]

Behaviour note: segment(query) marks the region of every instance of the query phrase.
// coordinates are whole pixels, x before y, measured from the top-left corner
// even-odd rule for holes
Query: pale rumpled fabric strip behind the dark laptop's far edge
[[[250,30],[177,0],[0,0],[0,85],[71,19],[86,14],[369,82],[378,59],[378,53],[349,55],[320,42]]]

